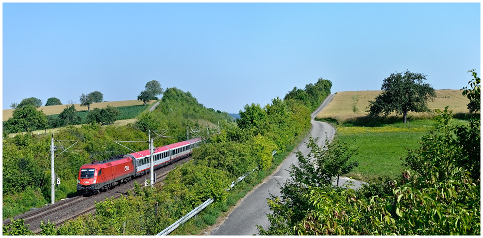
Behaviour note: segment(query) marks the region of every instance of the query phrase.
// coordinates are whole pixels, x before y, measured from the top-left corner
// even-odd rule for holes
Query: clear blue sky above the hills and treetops
[[[237,113],[323,77],[391,73],[461,89],[481,69],[480,3],[3,3],[2,106],[135,100],[150,80]]]

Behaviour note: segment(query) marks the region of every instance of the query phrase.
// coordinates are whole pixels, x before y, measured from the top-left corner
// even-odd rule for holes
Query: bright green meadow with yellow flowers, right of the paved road
[[[466,120],[453,119],[455,125],[464,125]],[[349,124],[350,125],[350,124]],[[407,149],[417,149],[418,141],[433,128],[432,119],[419,119],[409,123],[396,122],[369,126],[336,126],[337,138],[359,147],[350,160],[359,162],[347,177],[370,181],[378,177],[394,177],[401,173],[401,158]]]

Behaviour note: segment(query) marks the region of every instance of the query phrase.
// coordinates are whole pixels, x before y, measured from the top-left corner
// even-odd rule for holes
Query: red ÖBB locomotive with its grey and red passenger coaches
[[[200,145],[201,139],[191,139],[154,149],[154,168],[162,167],[188,157],[193,148]],[[116,156],[104,161],[84,164],[79,170],[77,191],[99,193],[134,177],[146,174],[150,169],[150,150]]]

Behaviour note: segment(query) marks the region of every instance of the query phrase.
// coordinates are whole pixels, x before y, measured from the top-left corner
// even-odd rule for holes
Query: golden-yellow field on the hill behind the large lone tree
[[[374,99],[381,93],[381,90],[373,91],[343,91],[337,92],[333,97],[332,102],[327,105],[319,114],[317,119],[335,119],[339,122],[344,122],[349,119],[357,117],[365,117],[367,115],[366,108],[369,106],[369,101]],[[469,103],[468,98],[463,96],[459,89],[439,89],[436,90],[436,98],[433,102],[429,102],[429,108],[444,109],[449,106],[449,110],[455,113],[467,113],[466,104]],[[396,114],[392,114],[396,115]],[[413,118],[429,118],[431,113],[414,113],[409,112],[409,116]]]

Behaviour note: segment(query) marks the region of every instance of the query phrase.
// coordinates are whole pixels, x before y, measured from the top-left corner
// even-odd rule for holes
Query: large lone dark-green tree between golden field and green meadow
[[[426,76],[419,73],[411,73],[408,71],[391,74],[383,81],[381,90],[383,92],[375,98],[375,101],[369,101],[368,114],[369,117],[378,117],[381,114],[387,116],[392,112],[403,115],[403,121],[406,123],[408,112],[429,112],[428,101],[436,97],[433,87],[427,83],[423,83]]]

